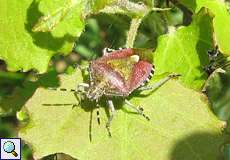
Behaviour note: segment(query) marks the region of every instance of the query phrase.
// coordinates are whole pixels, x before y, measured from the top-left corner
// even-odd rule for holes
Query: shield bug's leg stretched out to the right
[[[179,74],[169,74],[167,77],[161,79],[160,81],[156,82],[155,84],[149,85],[149,86],[142,86],[138,88],[137,90],[139,91],[144,91],[144,90],[155,90],[162,86],[165,82],[168,80],[180,76]]]

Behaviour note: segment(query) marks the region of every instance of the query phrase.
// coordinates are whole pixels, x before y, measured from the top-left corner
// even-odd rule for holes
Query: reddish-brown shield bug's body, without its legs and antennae
[[[150,76],[153,65],[141,60],[133,49],[123,49],[90,63],[88,98],[128,96]]]

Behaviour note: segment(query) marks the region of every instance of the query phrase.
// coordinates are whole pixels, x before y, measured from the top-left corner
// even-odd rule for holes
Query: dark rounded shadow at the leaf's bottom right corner
[[[224,136],[212,133],[194,133],[176,142],[171,160],[222,160]]]

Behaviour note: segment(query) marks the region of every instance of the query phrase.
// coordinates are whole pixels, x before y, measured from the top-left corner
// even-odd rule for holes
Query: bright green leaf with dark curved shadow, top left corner
[[[55,3],[0,0],[0,3],[0,59],[6,61],[11,71],[35,69],[40,73],[45,72],[55,53],[66,54],[72,50],[76,36],[84,28],[80,18],[83,10],[80,0],[75,0],[77,5],[66,13],[52,32],[33,32],[32,28],[40,17],[52,15],[65,7],[65,0]]]

